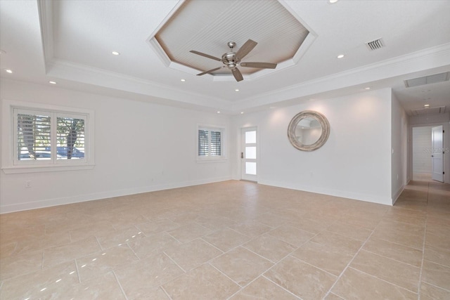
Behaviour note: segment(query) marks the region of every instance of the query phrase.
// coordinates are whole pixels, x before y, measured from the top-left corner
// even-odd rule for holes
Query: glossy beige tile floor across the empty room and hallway
[[[226,181],[0,215],[0,299],[450,299],[450,185]]]

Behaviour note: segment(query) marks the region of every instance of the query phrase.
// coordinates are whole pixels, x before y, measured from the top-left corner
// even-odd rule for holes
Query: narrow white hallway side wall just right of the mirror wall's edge
[[[395,202],[408,182],[408,116],[394,94],[391,112],[391,185],[392,202]]]

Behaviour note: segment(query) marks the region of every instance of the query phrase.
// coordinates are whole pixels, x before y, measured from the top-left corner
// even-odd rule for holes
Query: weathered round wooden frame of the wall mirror
[[[304,145],[300,143],[300,141],[297,140],[297,137],[295,136],[295,128],[297,128],[297,124],[300,122],[300,120],[305,118],[314,118],[322,126],[322,134],[319,137],[319,140],[316,141],[316,143],[311,145]],[[289,126],[288,126],[288,138],[290,143],[297,148],[298,150],[302,151],[314,151],[323,146],[323,144],[326,143],[328,140],[328,136],[330,136],[330,123],[328,123],[328,119],[324,115],[322,115],[320,112],[315,112],[314,110],[304,110],[302,112],[299,112],[295,117],[293,117],[292,120],[290,120]]]

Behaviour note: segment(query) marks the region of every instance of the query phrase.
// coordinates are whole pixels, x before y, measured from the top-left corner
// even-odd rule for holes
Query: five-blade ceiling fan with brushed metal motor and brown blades
[[[238,52],[233,52],[233,48],[236,47],[236,43],[234,41],[229,41],[227,45],[230,47],[230,51],[224,53],[222,58],[210,56],[209,54],[198,52],[195,50],[191,50],[189,52],[198,54],[199,56],[205,56],[205,58],[211,58],[213,60],[218,60],[224,64],[221,67],[216,67],[212,70],[207,70],[205,72],[201,72],[201,73],[197,74],[197,76],[202,76],[204,74],[211,74],[212,72],[220,70],[223,67],[228,67],[231,70],[231,72],[233,72],[233,76],[236,79],[236,81],[241,81],[244,78],[242,76],[242,73],[239,71],[238,66],[239,67],[256,67],[259,69],[275,69],[276,68],[276,63],[240,63],[240,60],[243,59],[248,53],[250,53],[250,51],[252,51],[252,49],[255,48],[255,46],[257,44],[258,43],[256,41],[252,41],[251,39],[249,39],[242,45],[242,47],[239,48]]]

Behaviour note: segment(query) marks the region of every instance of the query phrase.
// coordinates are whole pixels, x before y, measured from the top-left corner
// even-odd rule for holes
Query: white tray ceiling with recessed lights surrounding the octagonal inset
[[[245,2],[257,6],[259,1]],[[307,47],[274,72],[262,70],[236,82],[231,76],[197,77],[198,70],[162,59],[149,42],[183,1],[1,0],[1,78],[39,84],[53,80],[68,89],[232,114],[366,87],[391,87],[409,113],[426,103],[450,109],[449,81],[404,86],[406,79],[450,71],[450,1],[279,2],[311,32]],[[228,41],[241,45],[254,39],[259,43],[255,51],[280,42],[266,40],[264,34],[259,40],[250,36],[246,24],[251,20],[233,18],[232,9],[225,8],[224,15],[240,30],[221,30],[228,26],[223,18],[214,40],[200,39],[193,50],[206,52],[212,43],[222,43],[224,51],[208,53],[220,57]],[[209,25],[204,15],[193,15],[193,20]],[[365,43],[378,38],[385,46],[369,51]],[[341,53],[345,57],[336,58]]]

